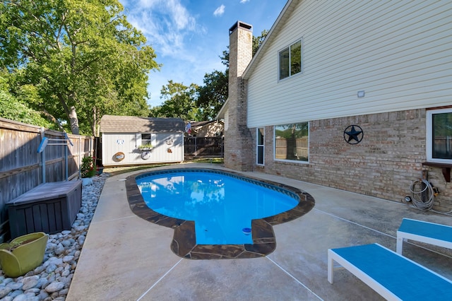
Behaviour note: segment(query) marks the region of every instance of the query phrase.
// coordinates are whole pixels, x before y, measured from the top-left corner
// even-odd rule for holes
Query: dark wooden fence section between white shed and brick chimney
[[[185,137],[185,157],[222,157],[224,155],[221,137]]]

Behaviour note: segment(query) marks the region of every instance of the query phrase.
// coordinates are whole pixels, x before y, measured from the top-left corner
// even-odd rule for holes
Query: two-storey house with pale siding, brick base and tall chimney
[[[225,166],[452,209],[452,2],[289,0],[230,28]]]

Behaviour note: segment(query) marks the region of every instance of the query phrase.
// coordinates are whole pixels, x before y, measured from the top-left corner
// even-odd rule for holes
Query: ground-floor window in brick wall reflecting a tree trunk
[[[309,124],[275,126],[275,160],[309,160]]]

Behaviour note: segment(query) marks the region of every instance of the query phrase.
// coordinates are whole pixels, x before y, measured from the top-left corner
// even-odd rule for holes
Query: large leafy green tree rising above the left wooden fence
[[[95,134],[103,114],[147,115],[147,74],[159,65],[123,10],[117,0],[4,1],[0,68],[14,73],[11,92],[35,86],[30,105],[73,134]]]

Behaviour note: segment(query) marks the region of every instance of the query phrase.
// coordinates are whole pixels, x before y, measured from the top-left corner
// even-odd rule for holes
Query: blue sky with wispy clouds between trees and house
[[[161,105],[162,86],[203,85],[206,73],[225,71],[220,56],[229,45],[229,28],[240,20],[253,35],[270,30],[287,0],[119,0],[133,27],[157,54],[160,71],[150,71],[151,107]]]

